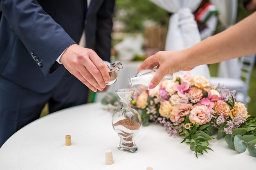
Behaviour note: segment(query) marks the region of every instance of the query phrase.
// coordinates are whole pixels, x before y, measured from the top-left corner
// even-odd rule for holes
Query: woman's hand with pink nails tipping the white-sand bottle
[[[189,71],[194,68],[191,66],[187,58],[187,51],[159,51],[155,55],[148,57],[138,68],[138,71],[154,68],[157,66],[159,70],[152,78],[148,88],[152,89],[159,84],[161,79],[168,74],[177,71]]]

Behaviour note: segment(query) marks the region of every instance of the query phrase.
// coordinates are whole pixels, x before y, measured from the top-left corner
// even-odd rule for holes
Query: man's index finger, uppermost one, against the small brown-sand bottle
[[[110,76],[108,74],[108,69],[107,69],[106,65],[103,63],[103,61],[101,60],[101,58],[94,51],[90,52],[89,58],[101,72],[103,80],[105,82],[109,82]]]

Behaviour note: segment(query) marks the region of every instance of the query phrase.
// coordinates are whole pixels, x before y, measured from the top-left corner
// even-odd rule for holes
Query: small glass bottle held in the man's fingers
[[[113,64],[107,61],[103,61],[103,63],[108,67],[108,74],[110,76],[110,82],[106,83],[106,85],[114,84],[118,78],[117,71],[121,70],[123,65],[119,61],[116,61]]]

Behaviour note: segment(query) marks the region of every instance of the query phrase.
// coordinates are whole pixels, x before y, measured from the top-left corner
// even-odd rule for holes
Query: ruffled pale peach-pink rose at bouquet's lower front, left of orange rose
[[[189,120],[191,123],[197,123],[199,125],[206,124],[207,113],[209,112],[207,106],[195,106],[190,111]]]

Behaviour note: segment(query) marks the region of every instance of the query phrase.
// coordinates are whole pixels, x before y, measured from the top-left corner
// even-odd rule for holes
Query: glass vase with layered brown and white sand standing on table
[[[112,126],[120,137],[117,148],[126,152],[137,152],[134,137],[142,126],[141,116],[138,111],[131,108],[134,89],[124,88],[116,91],[120,97],[121,108],[115,110],[112,116]]]

